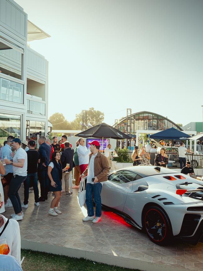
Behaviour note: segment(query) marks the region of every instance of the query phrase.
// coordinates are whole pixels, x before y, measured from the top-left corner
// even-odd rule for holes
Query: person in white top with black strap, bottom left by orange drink
[[[2,204],[3,200],[0,193],[0,208],[2,207]],[[5,218],[5,216],[0,214],[0,239],[5,239],[7,243],[7,250],[3,254],[12,255],[20,262],[21,239],[19,224],[14,219],[9,219],[8,223],[7,220],[8,219]],[[4,228],[6,223],[7,226]]]

